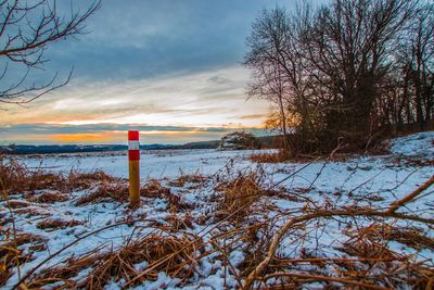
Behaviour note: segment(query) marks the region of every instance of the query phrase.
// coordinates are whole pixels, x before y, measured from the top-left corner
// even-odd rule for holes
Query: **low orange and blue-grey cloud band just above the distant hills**
[[[2,130],[0,143],[125,143],[127,131],[140,131],[142,143],[186,143],[203,140],[218,140],[233,130],[246,130],[257,136],[266,135],[258,128],[235,127],[178,127],[146,126],[137,124],[97,124],[97,125],[49,125],[18,124],[9,125]]]

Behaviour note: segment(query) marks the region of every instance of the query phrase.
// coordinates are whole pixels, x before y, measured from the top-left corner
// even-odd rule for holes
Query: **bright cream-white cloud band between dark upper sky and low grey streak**
[[[68,86],[28,106],[11,108],[2,114],[0,124],[256,127],[261,124],[268,105],[263,101],[246,101],[247,78],[246,70],[232,66],[155,79]]]

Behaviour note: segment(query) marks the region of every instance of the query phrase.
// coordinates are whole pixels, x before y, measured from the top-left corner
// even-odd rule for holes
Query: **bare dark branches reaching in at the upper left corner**
[[[48,61],[44,58],[48,46],[85,33],[86,20],[100,7],[101,0],[94,0],[85,10],[75,9],[73,0],[62,3],[56,0],[2,0],[0,2],[2,60],[0,102],[28,103],[66,85],[72,72],[66,79],[60,81],[58,73],[42,84],[28,84],[28,78],[31,71],[41,70]],[[15,72],[12,72],[11,66]],[[18,70],[23,72],[22,75],[5,84],[8,76],[14,75]]]

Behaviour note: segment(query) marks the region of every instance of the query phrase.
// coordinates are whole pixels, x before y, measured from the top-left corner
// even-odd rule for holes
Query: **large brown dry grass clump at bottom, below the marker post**
[[[156,280],[159,272],[184,281],[194,274],[197,262],[193,256],[203,251],[203,247],[202,241],[193,235],[178,237],[153,234],[117,251],[103,254],[92,252],[66,261],[65,266],[43,270],[34,277],[27,287],[39,288],[62,281],[63,288],[103,289],[111,281],[122,279],[124,283],[130,282],[129,287],[132,287],[144,280]],[[143,262],[145,264],[141,268],[137,266]],[[71,279],[88,267],[91,267],[92,272],[85,279],[78,282]]]

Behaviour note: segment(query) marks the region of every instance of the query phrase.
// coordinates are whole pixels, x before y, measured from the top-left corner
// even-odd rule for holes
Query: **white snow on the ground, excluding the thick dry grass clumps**
[[[168,277],[164,272],[159,273],[155,281],[144,281],[137,289],[159,288],[190,288],[190,289],[221,289],[237,288],[240,276],[245,267],[245,260],[251,251],[264,251],[255,249],[252,244],[243,244],[237,235],[231,236],[225,243],[233,239],[233,245],[229,253],[221,254],[209,242],[216,236],[237,228],[248,228],[257,223],[268,223],[258,230],[256,239],[258,243],[265,238],[269,239],[291,217],[303,214],[315,207],[321,209],[361,209],[370,206],[382,210],[417,189],[434,174],[434,133],[420,133],[393,140],[391,154],[357,156],[343,161],[316,161],[311,163],[279,163],[263,164],[259,169],[265,172],[265,188],[272,188],[276,194],[265,194],[248,210],[244,217],[244,224],[234,224],[231,219],[218,219],[213,217],[213,212],[218,210],[221,192],[215,190],[215,186],[221,178],[228,175],[237,176],[239,171],[259,171],[258,164],[248,160],[248,155],[257,151],[217,151],[217,150],[184,150],[184,151],[154,151],[141,155],[142,185],[156,178],[164,187],[169,188],[171,194],[179,197],[180,202],[188,204],[189,210],[179,210],[177,215],[184,218],[192,217],[191,227],[184,229],[201,237],[205,244],[205,252],[209,254],[199,256],[195,273],[187,281],[180,281]],[[116,177],[127,177],[128,161],[122,153],[94,153],[94,154],[63,154],[54,156],[20,157],[30,169],[43,168],[48,172],[68,173],[95,172],[102,169],[106,174]],[[229,165],[228,165],[229,164]],[[194,184],[186,182],[174,186],[174,180],[180,175],[201,174],[206,180]],[[226,177],[225,177],[226,176]],[[169,225],[167,217],[173,215],[170,202],[164,198],[143,197],[141,207],[129,211],[126,203],[116,201],[103,201],[77,205],[77,201],[84,196],[90,194],[94,187],[69,193],[65,201],[55,203],[28,202],[21,209],[12,210],[14,226],[17,232],[34,234],[46,238],[44,249],[35,251],[31,244],[22,245],[24,252],[30,252],[33,260],[20,266],[20,274],[15,268],[5,288],[13,287],[20,277],[33,269],[47,257],[50,260],[39,267],[36,273],[44,268],[53,268],[56,265],[67,264],[72,256],[76,257],[97,248],[101,251],[118,249],[130,239],[139,239],[156,229],[152,227],[155,222],[161,225]],[[434,201],[433,188],[427,189],[416,201],[408,203],[399,212],[417,215],[424,218],[433,218]],[[35,194],[40,194],[37,191]],[[116,192],[114,192],[116,194]],[[10,197],[12,201],[23,201],[24,194]],[[23,211],[24,209],[24,211]],[[12,219],[7,203],[2,201],[0,214],[4,213],[4,227],[12,227]],[[145,217],[145,218],[144,218]],[[63,220],[78,220],[76,226],[66,228],[41,229],[37,225],[41,220],[60,218]],[[129,219],[140,219],[132,224],[123,224],[102,230],[97,235],[78,240],[75,244],[62,251],[62,249],[85,235],[101,229],[104,226]],[[352,231],[374,225],[378,219],[370,218],[320,218],[310,222],[303,228],[296,228],[288,232],[278,248],[278,255],[284,259],[297,257],[355,257],[354,254],[343,252],[342,248],[347,242],[354,242]],[[151,222],[152,220],[152,222]],[[205,220],[205,222],[204,222]],[[272,222],[272,223],[271,223]],[[380,223],[380,222],[379,222]],[[385,225],[400,228],[418,228],[424,236],[434,238],[433,228],[426,224],[386,219]],[[297,235],[295,235],[297,234]],[[352,240],[353,237],[353,240]],[[434,266],[434,248],[414,249],[396,239],[386,242],[387,248],[398,254],[411,254],[412,261],[423,261],[426,265]],[[248,249],[252,248],[252,249]],[[214,249],[214,251],[213,251]],[[61,251],[54,256],[50,256]],[[231,262],[230,267],[224,267],[225,256]],[[145,269],[145,263],[140,270]],[[243,264],[244,263],[244,264]],[[144,267],[143,267],[144,265]],[[312,265],[292,266],[292,272],[304,273],[314,270],[320,274],[340,276],[336,266],[318,267]],[[360,266],[362,267],[362,266]],[[379,272],[381,267],[375,268]],[[431,268],[432,269],[432,268]],[[80,272],[71,278],[78,281],[90,273],[92,268]],[[388,270],[388,269],[387,269]],[[248,274],[248,273],[247,273]],[[374,275],[374,274],[372,274]],[[380,273],[376,273],[380,275]],[[245,275],[244,275],[245,276]],[[403,278],[403,281],[405,278]],[[268,280],[271,283],[273,278]],[[112,281],[107,289],[118,289],[125,281]],[[53,283],[62,285],[62,282]],[[334,282],[336,287],[345,285]],[[125,285],[124,285],[125,286]],[[264,286],[264,285],[263,285]],[[321,282],[311,282],[309,287],[323,288]],[[386,283],[378,286],[391,286]],[[396,286],[396,285],[394,285]],[[46,286],[46,288],[50,288]],[[403,283],[403,288],[409,287]]]

